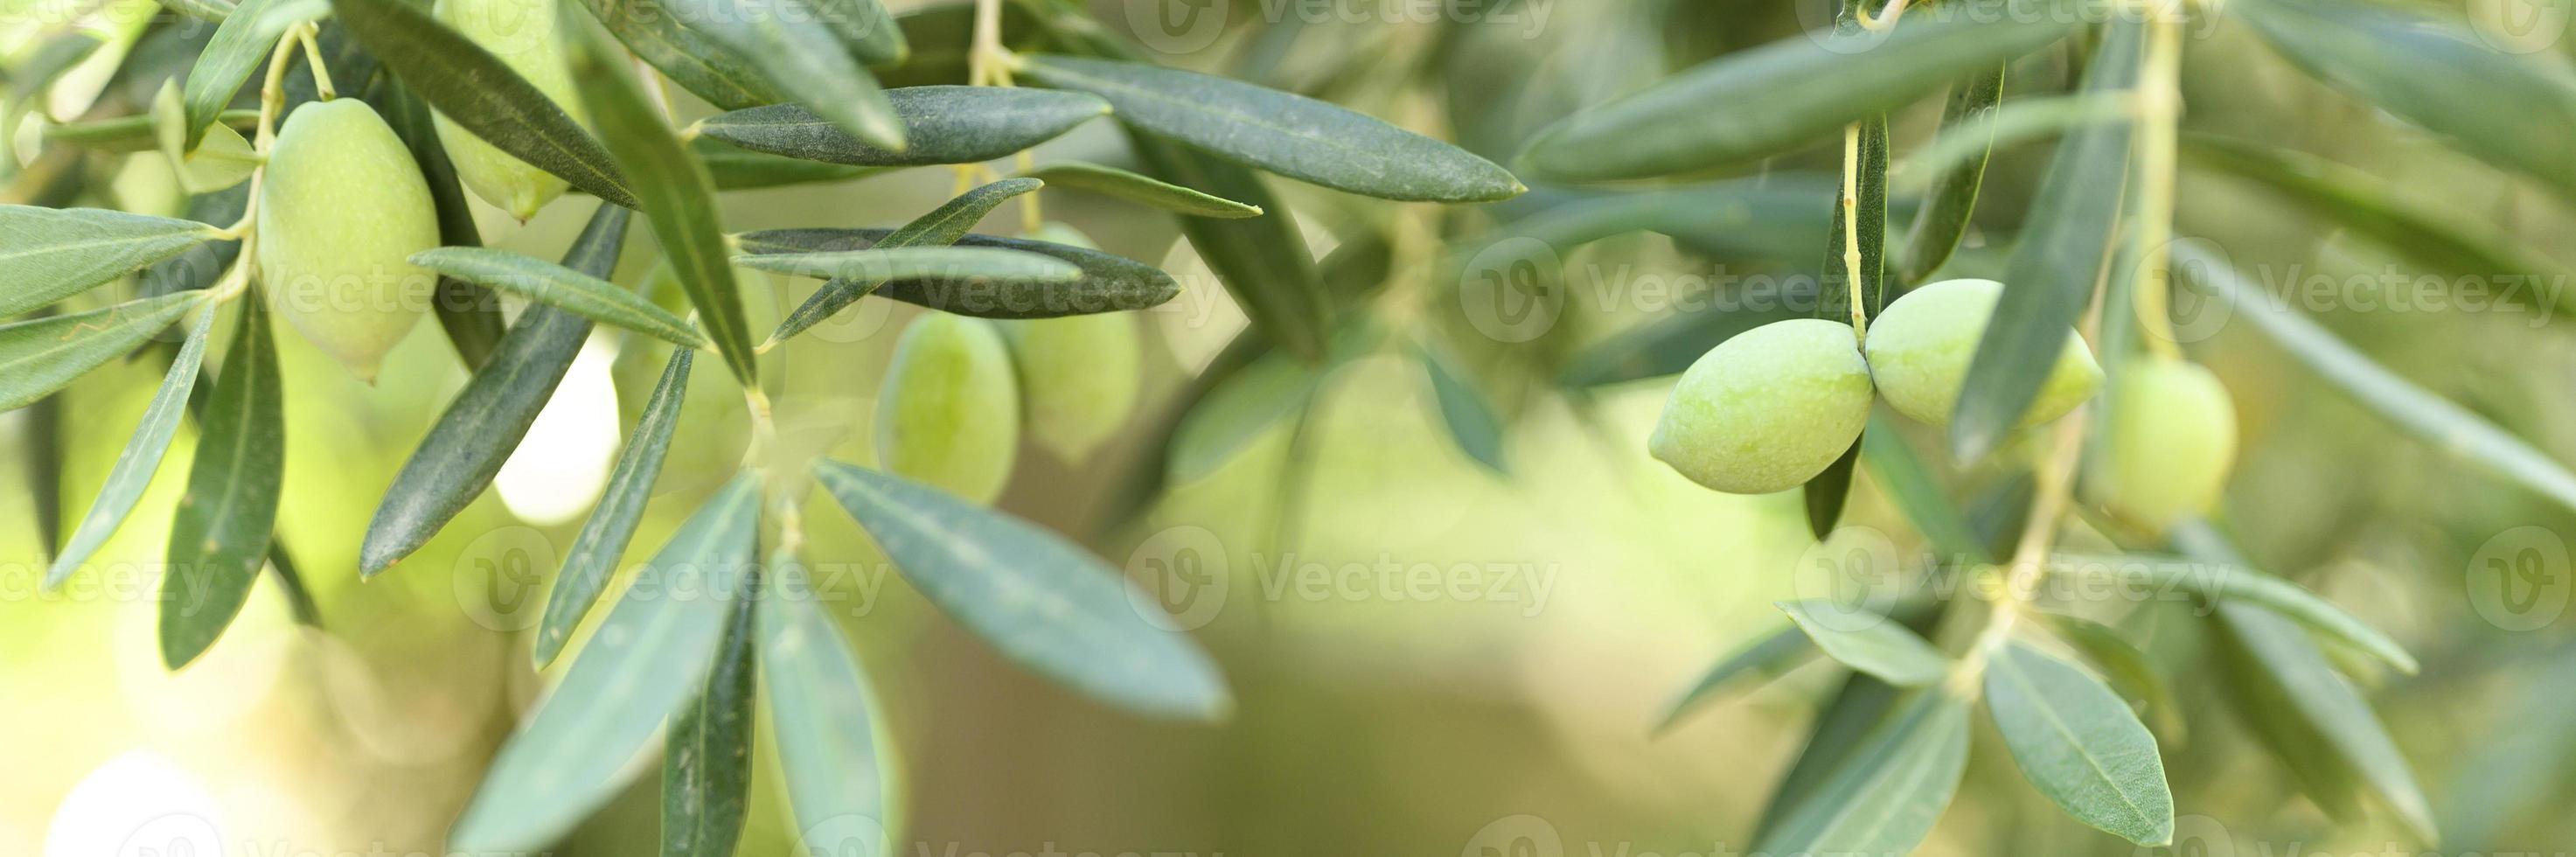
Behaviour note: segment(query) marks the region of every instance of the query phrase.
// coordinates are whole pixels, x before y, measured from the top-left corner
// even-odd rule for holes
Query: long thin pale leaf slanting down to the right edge
[[[2251,319],[2254,327],[2290,353],[2290,358],[2306,363],[2311,371],[2324,376],[2326,383],[2342,389],[2347,396],[2360,401],[2372,414],[2380,414],[2401,432],[2414,435],[2437,450],[2465,458],[2494,476],[2519,481],[2561,507],[2576,510],[2576,474],[2571,474],[2563,463],[2532,448],[2522,438],[2509,435],[2494,422],[2481,419],[2465,407],[2398,378],[2378,360],[2370,360],[2370,355],[2300,317],[2295,309],[2275,306],[2269,293],[2264,293],[2262,286],[2249,283],[2244,273],[2228,265],[2226,257],[2218,257],[2195,242],[2177,242],[2174,270],[2184,275],[2184,283],[2200,283],[2205,291],[2223,299],[2236,314]]]

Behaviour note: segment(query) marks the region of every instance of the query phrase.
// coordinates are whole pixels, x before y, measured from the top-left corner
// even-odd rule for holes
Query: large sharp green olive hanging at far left
[[[278,317],[374,383],[430,309],[438,208],[412,149],[355,98],[286,116],[260,180],[260,288]]]

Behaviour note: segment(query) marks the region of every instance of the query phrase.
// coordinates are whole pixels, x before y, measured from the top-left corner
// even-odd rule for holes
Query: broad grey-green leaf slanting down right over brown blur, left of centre
[[[837,461],[814,476],[904,579],[1005,656],[1149,715],[1221,721],[1234,708],[1198,643],[1157,625],[1151,597],[1061,535]]]

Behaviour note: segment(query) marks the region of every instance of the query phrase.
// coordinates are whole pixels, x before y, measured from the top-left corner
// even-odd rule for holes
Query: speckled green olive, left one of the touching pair
[[[1870,365],[1852,327],[1788,319],[1690,363],[1646,448],[1703,486],[1770,494],[1824,474],[1868,422]]]

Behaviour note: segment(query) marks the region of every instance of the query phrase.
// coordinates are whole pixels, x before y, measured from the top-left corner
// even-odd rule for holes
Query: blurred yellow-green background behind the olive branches
[[[1113,28],[1133,26],[1133,8],[1095,3]],[[1301,13],[1311,5],[1293,3],[1221,8],[1231,21],[1216,39],[1149,57],[1332,98],[1502,160],[1577,106],[1718,51],[1793,39],[1819,3],[1504,3],[1473,13],[1430,5],[1430,15],[1401,13],[1425,8],[1406,3],[1329,5],[1347,15]],[[118,0],[88,18],[28,0],[5,0],[0,10],[10,13],[0,23],[0,57],[15,59],[64,21],[131,26],[149,3]],[[2455,13],[2499,10],[2473,3]],[[2187,129],[2316,152],[2535,252],[2576,257],[2568,239],[2576,221],[2563,203],[2316,85],[2236,23],[2202,23],[2187,44]],[[2545,49],[2563,62],[2568,44]],[[2030,57],[2014,67],[2009,93],[2063,90],[2066,64],[2063,51]],[[95,90],[103,72],[75,72],[67,88],[80,90],[80,80]],[[1929,139],[1935,118],[1937,103],[1896,116],[1899,162]],[[1832,170],[1837,152],[1826,149],[1765,170],[1783,180]],[[2045,149],[2048,142],[1996,152],[1976,232],[1953,273],[1999,268]],[[1038,157],[1126,162],[1108,124]],[[180,201],[152,157],[100,180],[113,196],[88,203],[167,214]],[[726,226],[891,226],[933,208],[953,183],[948,170],[909,170],[850,185],[729,193]],[[1600,193],[1538,188],[1504,206],[1435,211],[1275,185],[1319,257],[1363,234],[1427,239],[1443,252],[1473,247],[1494,224]],[[2318,273],[2334,281],[2391,265],[2411,273],[2383,247],[2223,175],[2187,170],[2179,198],[2182,234],[2218,239],[2239,268],[2282,296]],[[1795,494],[1710,494],[1646,458],[1643,435],[1669,381],[1566,391],[1551,378],[1587,342],[1669,314],[1643,283],[1680,283],[1687,293],[1687,283],[1708,283],[1710,273],[1811,265],[1824,252],[1821,196],[1811,239],[1741,257],[1710,257],[1700,252],[1708,247],[1659,234],[1564,247],[1556,286],[1564,314],[1533,342],[1479,337],[1466,304],[1486,296],[1466,283],[1440,275],[1391,283],[1381,306],[1453,342],[1479,386],[1504,404],[1510,479],[1458,453],[1414,363],[1383,353],[1329,378],[1301,443],[1283,425],[1213,476],[1175,486],[1139,520],[1108,530],[1097,522],[1115,484],[1162,453],[1146,448],[1144,427],[1244,322],[1167,216],[1054,190],[1043,203],[1048,219],[1095,234],[1105,250],[1162,263],[1182,278],[1182,296],[1136,317],[1149,340],[1136,432],[1084,463],[1025,445],[999,507],[1082,535],[1154,584],[1224,664],[1239,710],[1224,726],[1198,728],[1074,697],[935,615],[886,574],[842,515],[809,515],[809,558],[840,597],[842,628],[876,677],[896,736],[899,852],[1749,849],[1772,777],[1834,687],[1832,669],[1806,667],[1664,736],[1649,726],[1700,669],[1780,625],[1770,602],[1806,594],[1803,558],[1878,543],[1914,551],[1919,538],[1862,476],[1847,530],[1814,546]],[[590,206],[564,198],[528,224],[484,208],[482,226],[497,247],[554,257]],[[1010,234],[1018,224],[1018,208],[1002,208],[984,232]],[[654,247],[644,229],[636,234],[621,283],[639,283],[652,268]],[[755,327],[773,324],[811,288],[757,273],[744,273],[744,286]],[[118,288],[93,299],[103,304]],[[2349,293],[2290,306],[2553,458],[2576,461],[2576,407],[2566,396],[2576,353],[2563,322],[2543,324],[2537,311],[2504,306],[2362,306]],[[2210,306],[2184,301],[2182,311]],[[788,443],[855,463],[873,458],[866,438],[876,376],[912,314],[907,304],[863,301],[773,353],[768,383]],[[2249,324],[2208,319],[2205,329],[2190,350],[2228,381],[2241,412],[2231,528],[2257,564],[2388,628],[2424,659],[2424,672],[2403,679],[2354,667],[2450,842],[2442,849],[2409,842],[2380,816],[2339,824],[2300,798],[2280,762],[2208,692],[2187,605],[2069,605],[2107,613],[2151,641],[2184,697],[2184,728],[2159,733],[2184,813],[2182,847],[2205,854],[2576,849],[2576,818],[2550,811],[2576,785],[2576,649],[2568,649],[2576,618],[2561,615],[2576,589],[2563,540],[2576,520],[2393,432]],[[0,492],[0,733],[13,736],[0,741],[0,852],[118,854],[126,831],[167,813],[214,818],[224,842],[263,847],[252,854],[270,854],[265,847],[443,852],[446,824],[489,754],[554,679],[528,672],[526,628],[667,345],[595,335],[495,492],[428,548],[361,584],[355,551],[366,520],[464,371],[433,324],[412,332],[376,386],[353,381],[299,337],[278,342],[291,386],[278,533],[314,587],[322,628],[294,625],[273,579],[263,579],[250,610],[204,661],[180,674],[160,667],[152,594],[193,427],[126,528],[62,594],[36,592],[44,556],[28,494]],[[88,507],[157,373],[149,360],[116,363],[64,394],[64,515]],[[10,450],[31,443],[26,432],[23,419],[0,417],[8,438],[0,443]],[[696,373],[629,564],[714,492],[744,440],[732,378]],[[1937,448],[1929,435],[1911,440]],[[0,484],[23,484],[23,458],[0,463],[8,471]],[[1947,476],[1960,492],[1999,479]],[[2499,538],[2558,546],[2558,566],[2535,582],[2535,610],[2481,610],[2481,597],[2494,602],[2481,587],[2496,582],[2481,576],[2478,556]],[[556,664],[554,672],[569,659]],[[639,854],[657,844],[657,762],[636,764],[647,764],[636,785],[585,824],[564,854]],[[791,836],[778,782],[760,780],[744,854],[783,854]],[[2063,818],[2022,785],[1996,741],[1981,739],[1963,798],[1924,852],[2133,849]]]

